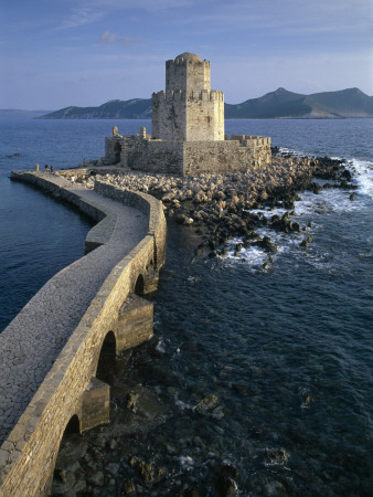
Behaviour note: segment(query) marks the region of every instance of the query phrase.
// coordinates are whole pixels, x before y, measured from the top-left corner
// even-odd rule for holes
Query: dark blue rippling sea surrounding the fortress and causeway
[[[0,120],[0,329],[83,255],[92,226],[10,171],[97,159],[114,125],[122,135],[151,128]],[[294,219],[305,231],[260,232],[278,245],[266,268],[258,247],[234,255],[236,240],[226,257],[194,256],[193,226],[169,223],[157,339],[117,360],[111,424],[84,435],[77,495],[126,495],[130,482],[149,496],[372,496],[373,119],[225,128],[270,136],[283,152],[344,159],[358,189],[301,192]],[[142,414],[128,414],[131,389],[148,399]]]

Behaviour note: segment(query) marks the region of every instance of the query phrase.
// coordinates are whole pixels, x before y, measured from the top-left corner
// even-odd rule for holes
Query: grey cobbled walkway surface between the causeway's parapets
[[[57,273],[0,334],[0,445],[105,278],[148,232],[148,219],[140,211],[92,190],[79,187],[72,190],[103,210],[114,212],[116,222],[107,244]]]

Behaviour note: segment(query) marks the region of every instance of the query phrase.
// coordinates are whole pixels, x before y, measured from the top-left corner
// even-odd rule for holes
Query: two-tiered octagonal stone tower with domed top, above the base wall
[[[224,140],[224,94],[211,89],[209,61],[185,52],[166,62],[166,92],[152,94],[152,138]]]

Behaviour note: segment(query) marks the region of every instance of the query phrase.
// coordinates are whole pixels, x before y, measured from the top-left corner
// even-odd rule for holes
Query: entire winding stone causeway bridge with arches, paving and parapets
[[[87,255],[50,279],[0,335],[0,496],[47,495],[63,434],[108,422],[109,387],[96,378],[106,348],[152,336],[153,290],[164,262],[159,201],[96,182],[13,172],[99,221]],[[95,248],[95,250],[93,250]]]

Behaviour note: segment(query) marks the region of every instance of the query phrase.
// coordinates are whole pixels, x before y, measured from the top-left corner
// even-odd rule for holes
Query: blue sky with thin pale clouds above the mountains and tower
[[[0,108],[150,98],[183,52],[211,62],[230,104],[373,95],[373,0],[0,0]]]

